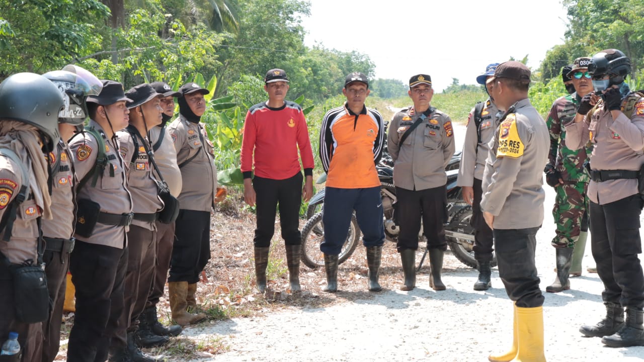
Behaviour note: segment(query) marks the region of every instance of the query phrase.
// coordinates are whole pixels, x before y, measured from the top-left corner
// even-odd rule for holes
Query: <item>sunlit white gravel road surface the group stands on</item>
[[[580,325],[594,324],[605,313],[601,281],[597,274],[585,271],[594,265],[590,240],[583,275],[571,278],[572,290],[545,292],[555,276],[550,245],[553,200],[554,191],[547,187],[544,227],[537,234],[536,251],[545,295],[547,360],[642,361],[644,347],[608,348],[599,338],[584,338],[578,332]],[[504,351],[512,341],[512,303],[496,268],[492,276],[493,288],[477,292],[472,289],[475,270],[446,272],[443,281],[448,289],[436,292],[429,287],[428,275],[421,274],[411,292],[383,285],[386,290],[369,300],[235,318],[189,328],[184,334],[204,340],[221,338],[229,346],[229,352],[199,361],[488,361],[490,352]]]

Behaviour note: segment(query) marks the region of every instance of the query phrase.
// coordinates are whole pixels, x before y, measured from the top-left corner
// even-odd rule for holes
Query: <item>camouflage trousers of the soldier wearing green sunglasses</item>
[[[554,189],[557,193],[553,207],[556,231],[551,243],[553,247],[573,249],[582,228],[588,230],[588,184],[571,182]]]

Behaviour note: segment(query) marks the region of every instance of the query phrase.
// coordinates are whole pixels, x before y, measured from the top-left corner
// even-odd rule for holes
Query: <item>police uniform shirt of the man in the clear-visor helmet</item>
[[[72,167],[72,154],[67,144],[60,140],[56,149],[48,156],[52,167],[52,220],[43,220],[43,236],[69,239],[74,233],[74,187],[76,175]]]

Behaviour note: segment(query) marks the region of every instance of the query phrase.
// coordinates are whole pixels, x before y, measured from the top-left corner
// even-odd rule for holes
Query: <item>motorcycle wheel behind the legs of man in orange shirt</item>
[[[324,253],[320,251],[320,243],[324,239],[324,225],[322,213],[316,213],[308,219],[302,228],[302,262],[311,269],[324,267]],[[360,240],[360,228],[355,214],[351,216],[348,234],[342,250],[337,258],[337,263],[345,262],[354,253]]]

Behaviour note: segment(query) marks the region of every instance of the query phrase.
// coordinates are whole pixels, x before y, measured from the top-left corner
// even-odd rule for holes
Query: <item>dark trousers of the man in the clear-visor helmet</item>
[[[65,302],[67,271],[70,269],[70,253],[45,251],[43,254],[47,289],[52,300],[52,312],[43,322],[43,362],[52,362],[61,343],[62,305]]]

